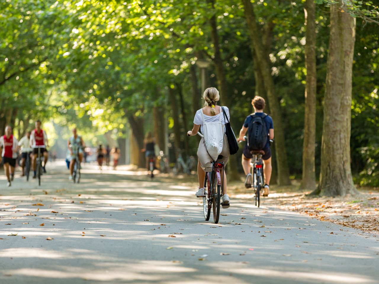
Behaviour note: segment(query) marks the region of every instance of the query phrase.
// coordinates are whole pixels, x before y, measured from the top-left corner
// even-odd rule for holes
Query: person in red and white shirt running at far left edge
[[[16,166],[18,141],[12,134],[11,126],[6,126],[5,135],[0,137],[0,150],[2,151],[0,163],[3,161],[4,171],[8,179],[8,187],[14,179],[14,167]],[[9,177],[10,172],[10,177]]]

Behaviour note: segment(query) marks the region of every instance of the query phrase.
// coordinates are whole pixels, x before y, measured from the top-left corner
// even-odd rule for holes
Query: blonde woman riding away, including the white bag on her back
[[[194,136],[199,131],[204,137],[200,140],[197,156],[197,176],[199,178],[199,187],[197,188],[196,197],[204,197],[204,179],[205,172],[212,171],[212,162],[224,162],[224,168],[229,160],[229,143],[225,134],[225,124],[230,120],[229,109],[226,106],[218,106],[220,95],[215,87],[207,88],[204,91],[203,99],[205,100],[204,107],[199,109],[193,120],[193,129],[187,132],[188,136]],[[227,117],[222,113],[224,110]],[[229,208],[230,198],[227,195],[227,183],[224,169],[221,170],[223,179],[222,208]]]

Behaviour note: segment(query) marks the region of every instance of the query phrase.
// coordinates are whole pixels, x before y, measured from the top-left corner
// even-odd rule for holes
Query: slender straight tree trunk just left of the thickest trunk
[[[315,143],[316,143],[316,22],[315,1],[305,1],[305,68],[307,83],[305,85],[303,171],[301,189],[315,190]]]

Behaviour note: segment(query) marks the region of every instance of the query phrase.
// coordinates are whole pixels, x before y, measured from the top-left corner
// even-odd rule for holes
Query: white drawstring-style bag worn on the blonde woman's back
[[[222,109],[220,108],[220,119],[215,122],[205,122],[203,109],[201,116],[203,118],[204,142],[208,154],[213,161],[216,161],[222,151],[222,142],[224,141],[224,125],[222,125]]]

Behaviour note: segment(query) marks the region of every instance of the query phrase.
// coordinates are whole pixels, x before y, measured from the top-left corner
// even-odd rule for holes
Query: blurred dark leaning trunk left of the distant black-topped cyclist
[[[128,113],[125,111],[125,113]],[[132,140],[132,153],[138,150],[138,167],[146,167],[145,154],[141,152],[143,149],[143,140],[144,140],[144,125],[143,118],[135,117],[133,114],[128,114],[128,122],[132,128],[132,137],[135,141]],[[136,142],[136,144],[134,144]],[[136,149],[138,147],[138,149]],[[136,161],[134,161],[135,163]]]

